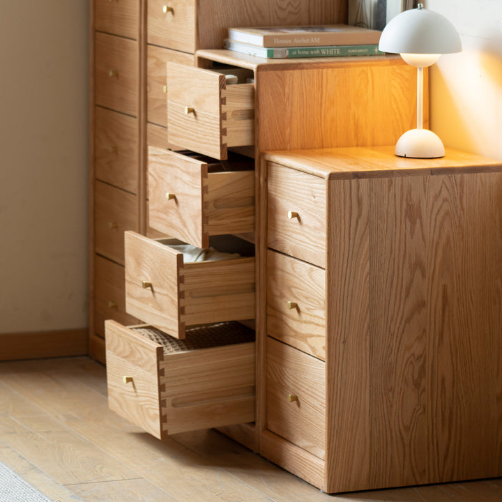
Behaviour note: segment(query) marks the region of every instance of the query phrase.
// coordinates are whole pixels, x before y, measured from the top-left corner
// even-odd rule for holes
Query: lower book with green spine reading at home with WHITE
[[[225,49],[267,59],[336,57],[336,56],[378,56],[378,45],[319,45],[307,47],[259,47],[235,40],[225,40]]]

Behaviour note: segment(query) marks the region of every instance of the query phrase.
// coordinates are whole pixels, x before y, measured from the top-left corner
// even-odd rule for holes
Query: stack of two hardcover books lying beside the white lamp
[[[262,58],[376,56],[380,35],[349,24],[229,28],[225,48]]]

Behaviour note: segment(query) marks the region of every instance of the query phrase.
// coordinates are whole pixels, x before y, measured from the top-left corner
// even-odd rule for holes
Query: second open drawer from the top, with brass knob
[[[222,162],[149,147],[149,225],[207,248],[209,236],[254,231],[254,160]]]

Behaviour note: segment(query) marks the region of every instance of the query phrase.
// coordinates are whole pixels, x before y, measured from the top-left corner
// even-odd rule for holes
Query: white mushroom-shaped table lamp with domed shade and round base
[[[394,17],[382,31],[379,50],[401,54],[402,59],[417,68],[417,128],[404,133],[395,153],[401,157],[443,157],[445,150],[434,132],[423,129],[423,68],[431,66],[441,54],[460,52],[462,43],[450,21],[423,8],[405,10]]]

